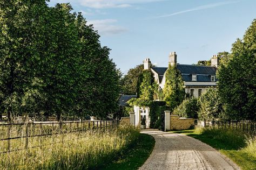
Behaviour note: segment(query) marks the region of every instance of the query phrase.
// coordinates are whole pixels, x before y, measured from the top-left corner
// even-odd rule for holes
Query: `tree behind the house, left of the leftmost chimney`
[[[131,68],[128,73],[122,79],[122,90],[125,94],[137,94],[139,92],[139,77],[142,74],[144,65],[138,65]]]

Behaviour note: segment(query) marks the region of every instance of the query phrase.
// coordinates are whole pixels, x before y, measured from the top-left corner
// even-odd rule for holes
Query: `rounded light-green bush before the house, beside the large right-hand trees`
[[[221,112],[223,112],[223,104],[220,102],[218,89],[207,89],[207,91],[200,96],[199,104],[199,119],[220,118]]]

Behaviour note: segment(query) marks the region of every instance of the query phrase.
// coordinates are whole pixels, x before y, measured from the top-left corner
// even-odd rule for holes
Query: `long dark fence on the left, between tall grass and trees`
[[[79,134],[87,131],[111,131],[118,126],[119,120],[114,119],[110,121],[2,123],[0,124],[0,154],[64,143],[64,134],[67,133],[77,133],[78,137],[82,137]],[[57,136],[62,136],[62,138]]]

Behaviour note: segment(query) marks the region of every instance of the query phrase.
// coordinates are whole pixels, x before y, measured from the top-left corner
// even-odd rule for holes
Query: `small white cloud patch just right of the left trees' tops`
[[[116,19],[89,20],[87,22],[89,25],[92,24],[100,34],[111,35],[127,31],[125,27],[114,25],[115,23],[117,23]]]

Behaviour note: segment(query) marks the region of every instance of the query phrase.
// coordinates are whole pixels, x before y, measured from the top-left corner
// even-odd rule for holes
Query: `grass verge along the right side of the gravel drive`
[[[241,169],[256,167],[256,138],[248,138],[232,129],[196,128],[171,131],[183,133],[206,143],[233,160]]]

